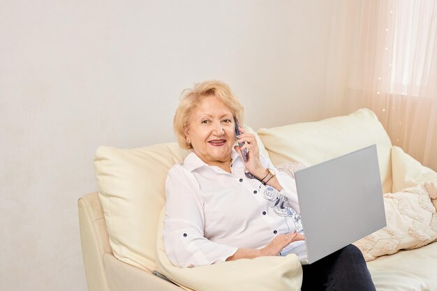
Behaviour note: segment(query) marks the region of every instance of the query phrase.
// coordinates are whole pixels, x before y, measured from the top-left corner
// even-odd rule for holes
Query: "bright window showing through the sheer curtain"
[[[394,1],[390,91],[420,96],[431,86],[431,62],[436,55],[437,7],[433,0]],[[390,33],[390,29],[386,29]],[[386,48],[387,50],[387,48]]]

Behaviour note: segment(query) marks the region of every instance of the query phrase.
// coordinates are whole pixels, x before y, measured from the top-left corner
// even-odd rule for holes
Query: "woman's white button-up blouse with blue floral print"
[[[174,165],[165,181],[163,239],[170,261],[179,267],[223,262],[238,248],[262,248],[277,234],[302,233],[295,180],[261,156],[276,172],[282,191],[246,177],[232,149],[231,173],[209,166],[194,153]],[[282,255],[301,250],[295,241]]]

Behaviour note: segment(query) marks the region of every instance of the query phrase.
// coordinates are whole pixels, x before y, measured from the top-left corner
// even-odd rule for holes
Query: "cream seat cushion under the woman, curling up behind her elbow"
[[[156,235],[158,272],[182,288],[197,291],[300,290],[302,266],[295,254],[220,262],[193,268],[175,267],[165,254],[162,237],[164,216],[163,209]]]

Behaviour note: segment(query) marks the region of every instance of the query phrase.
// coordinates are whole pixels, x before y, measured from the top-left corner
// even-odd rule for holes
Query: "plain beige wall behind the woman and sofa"
[[[94,150],[174,141],[193,82],[228,82],[255,129],[338,114],[339,2],[0,0],[0,290],[86,289]]]

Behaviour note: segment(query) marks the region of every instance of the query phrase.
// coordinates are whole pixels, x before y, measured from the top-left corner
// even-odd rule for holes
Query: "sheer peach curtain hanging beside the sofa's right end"
[[[392,144],[437,170],[437,0],[360,5],[345,110],[369,107]]]

